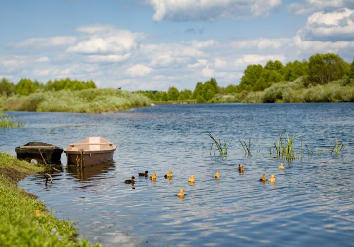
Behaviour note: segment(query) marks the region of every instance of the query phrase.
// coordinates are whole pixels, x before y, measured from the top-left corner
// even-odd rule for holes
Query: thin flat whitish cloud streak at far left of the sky
[[[58,36],[50,38],[33,38],[18,43],[10,43],[8,46],[15,48],[53,48],[69,46],[76,41],[72,36]]]

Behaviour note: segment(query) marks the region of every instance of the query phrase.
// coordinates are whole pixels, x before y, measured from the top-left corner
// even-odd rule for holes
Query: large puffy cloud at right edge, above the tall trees
[[[298,34],[303,41],[352,41],[354,10],[316,12],[307,18],[306,26]]]

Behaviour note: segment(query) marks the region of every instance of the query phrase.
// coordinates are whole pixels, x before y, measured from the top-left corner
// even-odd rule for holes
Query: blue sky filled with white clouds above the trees
[[[128,91],[238,84],[249,64],[354,58],[354,0],[0,0],[0,78]]]

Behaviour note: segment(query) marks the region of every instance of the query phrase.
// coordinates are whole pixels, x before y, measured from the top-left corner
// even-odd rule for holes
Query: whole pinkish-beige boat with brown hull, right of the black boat
[[[101,136],[87,137],[64,148],[68,164],[91,166],[113,159],[115,145]]]

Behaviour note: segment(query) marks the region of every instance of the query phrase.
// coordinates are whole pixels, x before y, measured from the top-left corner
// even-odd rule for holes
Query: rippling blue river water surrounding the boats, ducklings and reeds
[[[105,114],[9,112],[25,128],[1,133],[0,151],[44,141],[65,147],[87,136],[117,145],[114,161],[78,170],[63,165],[52,187],[43,174],[19,187],[54,216],[74,219],[80,237],[106,246],[353,246],[354,104],[159,105]],[[303,134],[302,159],[269,154],[277,131]],[[210,138],[231,142],[227,158],[210,156]],[[252,155],[238,138],[252,134]],[[335,137],[345,143],[330,155]],[[295,139],[299,151],[300,137]],[[314,154],[308,156],[306,148]],[[319,150],[320,149],[320,150]],[[323,153],[326,150],[326,153]],[[319,153],[317,153],[319,151]],[[213,153],[212,153],[213,154]],[[62,163],[66,164],[65,155]],[[240,175],[237,165],[245,166]],[[138,172],[157,173],[157,181]],[[173,171],[172,180],[163,175]],[[213,175],[219,171],[221,178]],[[275,184],[258,180],[275,174]],[[190,175],[195,184],[188,184]],[[135,175],[135,190],[124,184]],[[181,200],[176,193],[184,188]]]

